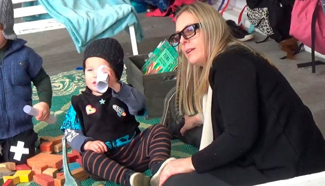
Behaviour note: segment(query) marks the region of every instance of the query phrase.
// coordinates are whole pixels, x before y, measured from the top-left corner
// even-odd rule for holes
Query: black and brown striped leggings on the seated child
[[[171,138],[165,126],[156,124],[118,150],[106,154],[85,151],[82,154],[82,164],[90,174],[125,185],[126,172],[143,172],[148,167],[152,170],[154,163],[170,157]]]

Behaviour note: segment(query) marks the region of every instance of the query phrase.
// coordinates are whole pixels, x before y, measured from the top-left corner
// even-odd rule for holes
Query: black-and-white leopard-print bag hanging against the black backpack
[[[271,36],[274,34],[270,20],[268,8],[254,8],[250,9],[247,7],[247,17],[251,24],[255,28],[259,29],[263,34]]]

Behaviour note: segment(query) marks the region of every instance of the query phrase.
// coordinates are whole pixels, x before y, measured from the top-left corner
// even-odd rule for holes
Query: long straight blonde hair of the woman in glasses
[[[180,115],[195,115],[202,112],[202,97],[207,93],[208,75],[214,58],[230,45],[247,46],[230,34],[228,25],[214,7],[197,2],[184,6],[176,17],[183,12],[191,13],[200,23],[200,33],[204,37],[207,56],[205,66],[191,65],[180,51],[179,45],[181,44],[178,45],[176,100],[179,103]]]

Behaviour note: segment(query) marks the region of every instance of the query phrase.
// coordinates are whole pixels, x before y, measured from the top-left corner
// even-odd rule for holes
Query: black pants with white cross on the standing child
[[[35,155],[35,142],[37,141],[37,138],[38,137],[34,129],[29,129],[25,132],[21,132],[20,134],[12,138],[0,140],[0,145],[2,146],[2,153],[0,153],[0,163],[14,162],[16,164],[26,164],[27,159]],[[12,151],[18,150],[14,149],[15,147],[17,147],[18,142],[19,144],[24,143],[24,148],[28,149],[28,153],[27,149],[25,149],[25,152],[23,151],[24,153],[22,153],[20,158],[17,154],[18,156],[16,157],[18,158],[16,159],[18,160],[15,160],[15,152],[11,152],[10,148],[12,148]],[[19,149],[20,152],[21,150],[22,149]]]

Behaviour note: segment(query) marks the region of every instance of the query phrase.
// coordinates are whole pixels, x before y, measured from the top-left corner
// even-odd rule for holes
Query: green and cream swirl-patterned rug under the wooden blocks
[[[125,72],[122,76],[122,81],[126,81]],[[70,106],[71,96],[78,95],[81,91],[84,90],[86,84],[84,82],[84,75],[82,70],[75,70],[70,72],[63,72],[58,75],[51,77],[52,87],[53,87],[53,99],[52,99],[52,108],[51,114],[54,114],[57,117],[56,124],[48,124],[46,122],[37,122],[34,119],[34,130],[37,132],[38,137],[41,136],[60,136],[63,135],[63,132],[60,130],[62,121],[64,120],[65,113]],[[36,93],[36,88],[33,89],[33,100],[38,102],[38,97]],[[143,130],[152,124],[160,122],[160,118],[146,120],[144,117],[137,117],[138,122],[140,122],[140,128]],[[39,141],[36,145],[39,144]],[[68,152],[71,149],[68,150]],[[184,144],[179,140],[172,141],[172,156],[176,158],[180,157],[189,157],[197,149],[191,145]],[[146,175],[152,176],[149,170],[145,171]],[[118,185],[113,182],[95,182],[94,180],[88,178],[82,181],[82,185],[97,185],[102,183],[104,185]],[[20,183],[22,185],[38,185],[34,182],[29,183]]]

